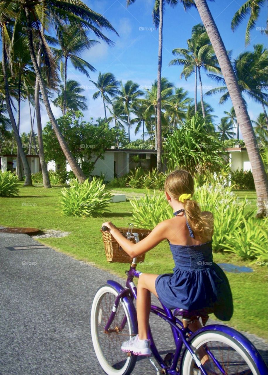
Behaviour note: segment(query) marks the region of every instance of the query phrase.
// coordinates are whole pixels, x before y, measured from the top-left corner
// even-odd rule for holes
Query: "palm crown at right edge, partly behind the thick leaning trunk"
[[[267,60],[268,50],[264,48],[263,45],[257,44],[254,45],[253,52],[242,52],[232,63],[241,92],[247,93],[250,99],[261,104],[265,114],[265,105],[268,105],[268,94],[263,91],[262,87],[266,87],[265,85],[268,80]],[[229,92],[225,80],[216,75],[210,75],[210,77],[223,83],[224,86],[212,89],[208,91],[206,95],[212,95],[219,92],[224,93],[220,98],[220,104],[222,104],[229,98]],[[268,128],[267,114],[266,121]]]

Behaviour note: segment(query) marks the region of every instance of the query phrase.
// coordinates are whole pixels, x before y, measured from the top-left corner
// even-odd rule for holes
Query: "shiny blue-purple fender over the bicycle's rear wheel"
[[[242,333],[236,331],[235,329],[228,327],[228,326],[223,326],[222,324],[211,324],[209,326],[202,327],[201,329],[197,330],[194,332],[189,339],[189,344],[193,341],[193,339],[199,335],[201,332],[206,332],[206,331],[220,331],[222,333],[225,333],[226,335],[231,336],[237,342],[246,349],[247,353],[249,353],[250,357],[253,359],[253,361],[256,363],[258,370],[260,371],[261,375],[267,375],[268,374],[268,368],[264,362],[264,360],[261,357],[261,354],[258,352],[256,347],[247,339]],[[187,348],[184,349],[183,351],[183,356],[186,352]],[[182,358],[183,358],[182,356]],[[183,362],[183,361],[182,361]],[[181,363],[182,366],[182,363]],[[181,368],[182,371],[182,368]]]

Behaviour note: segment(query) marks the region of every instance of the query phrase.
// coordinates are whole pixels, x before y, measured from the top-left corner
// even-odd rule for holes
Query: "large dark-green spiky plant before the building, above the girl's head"
[[[204,118],[195,115],[167,136],[164,144],[166,165],[171,170],[179,167],[192,174],[217,171],[225,164],[220,149],[221,142],[216,134],[208,133]]]

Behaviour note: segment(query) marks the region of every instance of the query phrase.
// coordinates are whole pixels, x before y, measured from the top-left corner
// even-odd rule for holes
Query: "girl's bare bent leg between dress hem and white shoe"
[[[139,339],[148,339],[149,315],[151,309],[151,292],[156,296],[155,282],[158,275],[142,273],[139,276],[137,290],[137,319],[139,329]]]

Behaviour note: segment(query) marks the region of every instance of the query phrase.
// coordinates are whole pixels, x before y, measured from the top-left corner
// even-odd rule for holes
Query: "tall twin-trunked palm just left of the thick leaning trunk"
[[[195,113],[197,111],[197,72],[199,76],[200,84],[200,98],[202,105],[202,114],[205,118],[205,108],[203,102],[203,87],[201,80],[201,68],[204,68],[206,72],[220,73],[219,63],[217,57],[213,51],[210,39],[207,31],[202,24],[195,25],[192,28],[192,37],[187,40],[188,48],[175,48],[172,54],[182,56],[184,58],[174,58],[171,60],[169,65],[183,65],[183,71],[181,77],[187,78],[195,72]]]

